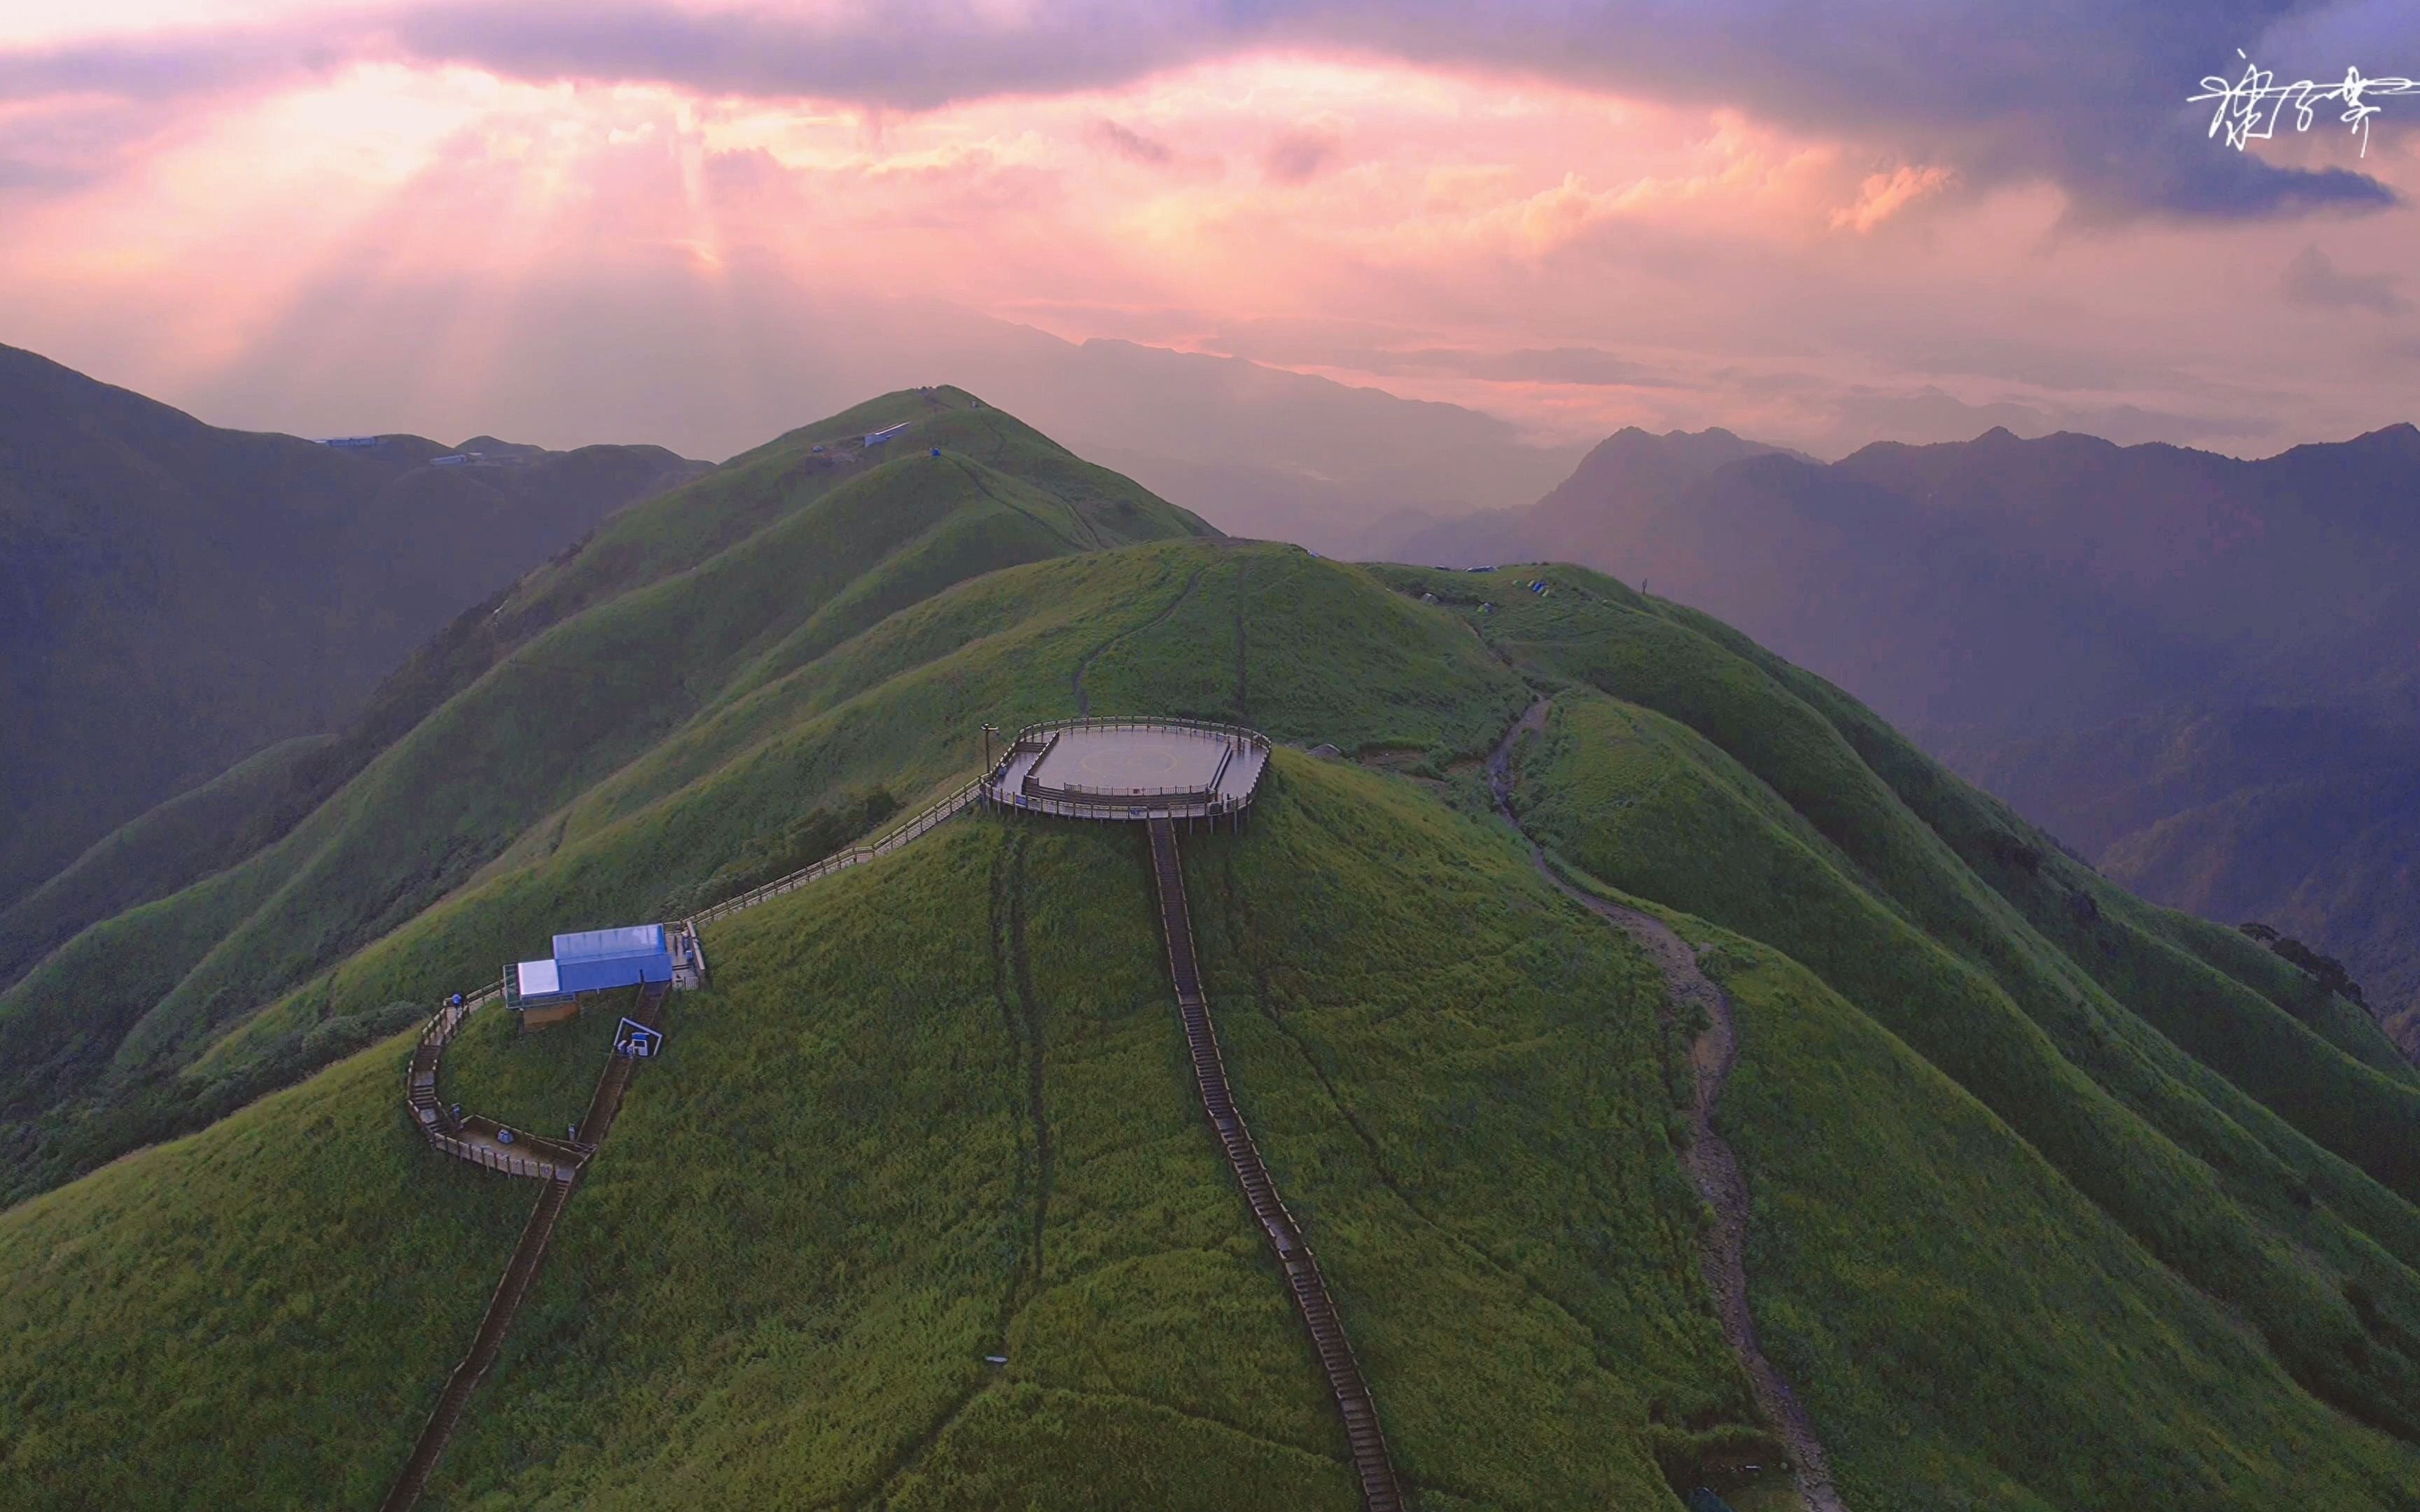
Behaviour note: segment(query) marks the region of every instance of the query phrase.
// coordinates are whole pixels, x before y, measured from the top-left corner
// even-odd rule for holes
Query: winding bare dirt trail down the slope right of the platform
[[[1723,1314],[1723,1338],[1730,1340],[1733,1355],[1747,1369],[1757,1410],[1764,1413],[1764,1420],[1788,1447],[1791,1483],[1798,1488],[1798,1500],[1805,1502],[1808,1512],[1846,1512],[1839,1490],[1832,1485],[1832,1461],[1822,1452],[1822,1439],[1815,1437],[1815,1420],[1808,1418],[1805,1403],[1798,1401],[1791,1384],[1781,1379],[1781,1369],[1764,1357],[1764,1345],[1757,1343],[1757,1321],[1747,1311],[1747,1178],[1740,1173],[1740,1156],[1713,1132],[1713,1103],[1723,1096],[1723,1081],[1730,1079],[1730,1067],[1740,1060],[1740,1031],[1733,1023],[1730,994],[1699,970],[1696,951],[1682,936],[1672,934],[1670,924],[1573,888],[1546,864],[1544,847],[1520,827],[1520,820],[1512,815],[1512,745],[1522,733],[1534,735],[1546,726],[1546,704],[1551,699],[1529,704],[1512,721],[1512,728],[1505,731],[1505,738],[1496,743],[1496,750],[1488,752],[1488,791],[1496,798],[1496,810],[1529,844],[1529,859],[1539,873],[1566,898],[1631,936],[1648,953],[1665,980],[1665,997],[1670,999],[1665,1016],[1670,1018],[1679,1004],[1696,1004],[1706,1011],[1709,1028],[1689,1045],[1689,1064],[1696,1072],[1696,1098],[1689,1108],[1689,1149],[1682,1156],[1699,1195],[1713,1207],[1713,1229],[1699,1246],[1699,1265]]]

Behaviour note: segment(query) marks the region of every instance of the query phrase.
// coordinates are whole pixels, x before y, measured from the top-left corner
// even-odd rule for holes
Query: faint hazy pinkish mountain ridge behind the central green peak
[[[448,431],[649,435],[721,460],[801,414],[946,377],[1229,535],[1329,556],[1372,556],[1406,525],[1537,498],[1588,452],[1459,404],[1210,351],[1070,341],[932,298],[842,298],[757,266],[733,264],[711,288],[651,283],[593,298],[578,353],[523,327],[482,363],[428,382],[421,402],[477,416]],[[368,351],[409,344],[438,317],[411,293],[351,285],[324,314]],[[334,435],[414,377],[300,387],[293,375],[327,360],[322,341],[312,324],[264,334],[225,370],[179,387],[177,402]],[[646,382],[622,375],[622,351],[649,351]]]

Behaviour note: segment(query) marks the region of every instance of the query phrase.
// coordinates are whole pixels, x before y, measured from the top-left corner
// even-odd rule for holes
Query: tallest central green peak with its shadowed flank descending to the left
[[[283,801],[300,813],[259,825],[240,864],[85,929],[0,994],[5,1190],[293,1074],[283,1052],[232,1081],[179,1072],[298,987],[315,1021],[348,1014],[329,965],[624,762],[709,723],[767,665],[811,663],[997,566],[1203,530],[973,404],[903,394],[794,433],[624,510],[457,619],[346,738],[293,767]],[[910,435],[859,455],[857,435],[910,414]]]

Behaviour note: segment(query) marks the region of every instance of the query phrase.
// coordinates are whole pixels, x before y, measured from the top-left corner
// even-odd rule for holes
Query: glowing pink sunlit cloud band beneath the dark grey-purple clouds
[[[685,416],[714,440],[641,431],[709,452],[719,416],[755,414],[750,375],[784,370],[765,344],[900,293],[1558,438],[2403,419],[2306,341],[2316,317],[2403,312],[2297,305],[2314,283],[2289,264],[2318,235],[2330,288],[2372,288],[2410,210],[2079,232],[2045,179],[1984,189],[1742,109],[1307,48],[920,111],[399,60],[244,80],[206,104],[0,102],[27,165],[12,191],[0,150],[0,339],[242,404],[211,419],[467,433],[518,404],[540,438],[595,438],[588,402]],[[2389,184],[2415,167],[2372,162]],[[2246,348],[2272,353],[2258,375]],[[532,397],[549,353],[561,380]],[[835,399],[883,360],[852,346]]]

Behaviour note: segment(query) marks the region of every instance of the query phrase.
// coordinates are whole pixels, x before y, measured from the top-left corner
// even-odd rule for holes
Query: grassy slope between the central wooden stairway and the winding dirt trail
[[[1442,1505],[1655,1505],[1754,1422],[1667,1142],[1663,982],[1510,835],[1302,757],[1195,844],[1229,1074],[1396,1464]]]

